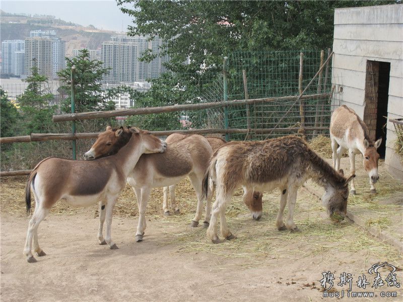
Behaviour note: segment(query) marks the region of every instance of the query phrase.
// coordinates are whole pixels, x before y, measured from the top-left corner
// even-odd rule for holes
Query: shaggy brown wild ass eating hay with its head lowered
[[[264,141],[233,141],[222,146],[213,155],[208,173],[204,179],[204,191],[208,177],[216,181],[217,199],[213,204],[208,237],[219,243],[217,219],[221,218],[221,234],[234,239],[225,219],[226,204],[231,201],[235,189],[242,185],[248,192],[253,190],[271,191],[275,188],[282,192],[280,210],[276,225],[279,231],[297,231],[294,223],[294,207],[297,190],[312,178],[324,187],[323,204],[329,215],[333,212],[346,214],[349,195],[347,180],[299,137],[285,136]],[[283,212],[288,199],[288,218],[283,222]]]

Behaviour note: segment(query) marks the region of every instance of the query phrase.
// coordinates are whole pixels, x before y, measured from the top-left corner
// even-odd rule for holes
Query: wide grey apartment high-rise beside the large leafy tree
[[[163,58],[155,58],[152,62],[141,62],[142,54],[151,49],[158,54],[162,40],[155,38],[148,41],[146,37],[111,36],[110,41],[102,43],[101,60],[104,67],[111,71],[105,78],[108,82],[145,82],[158,78],[164,71]]]

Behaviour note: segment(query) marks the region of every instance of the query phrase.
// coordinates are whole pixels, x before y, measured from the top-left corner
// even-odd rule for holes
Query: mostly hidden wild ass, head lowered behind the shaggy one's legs
[[[178,142],[179,140],[182,140],[183,138],[187,137],[188,135],[186,134],[180,134],[180,133],[173,133],[169,135],[166,138],[166,142],[168,144]],[[209,142],[210,146],[213,149],[213,153],[216,152],[217,149],[219,149],[222,145],[226,144],[227,141],[221,137],[205,137],[207,141]],[[214,185],[212,181],[209,181],[209,186],[211,190],[211,194],[213,196],[214,194]],[[171,199],[171,208],[174,209],[175,213],[179,212],[179,207],[176,205],[176,200],[175,200],[175,189],[176,189],[176,184],[169,186],[169,194],[170,194],[170,199]],[[245,205],[248,207],[250,212],[252,213],[252,217],[255,220],[259,220],[262,214],[262,197],[263,194],[260,192],[246,192],[244,190],[244,195],[243,195],[243,201]],[[164,214],[166,216],[170,215],[169,208],[168,208],[168,187],[164,187]],[[206,204],[206,213],[211,212],[211,204]],[[211,215],[206,216],[206,221],[203,223],[203,226],[207,228],[209,226],[209,221]]]

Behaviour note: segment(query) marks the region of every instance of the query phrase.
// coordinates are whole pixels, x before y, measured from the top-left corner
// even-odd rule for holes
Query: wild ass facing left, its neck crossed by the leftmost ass
[[[114,154],[128,140],[128,131],[124,130],[118,137],[112,129],[99,134],[91,149],[84,154],[86,160]],[[209,142],[201,135],[192,134],[184,139],[167,145],[163,154],[143,155],[127,176],[127,182],[136,194],[139,205],[139,223],[136,241],[142,241],[146,229],[146,207],[151,189],[177,184],[189,176],[196,191],[197,209],[191,226],[197,226],[203,208],[203,176],[209,164],[213,150]],[[212,195],[207,194],[206,220],[210,219]]]

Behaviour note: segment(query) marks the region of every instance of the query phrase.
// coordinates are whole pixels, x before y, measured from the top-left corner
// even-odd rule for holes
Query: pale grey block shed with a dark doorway
[[[403,118],[403,5],[335,10],[333,51],[332,79],[341,104],[364,120],[371,138],[383,138],[378,152],[403,180],[389,121]]]

